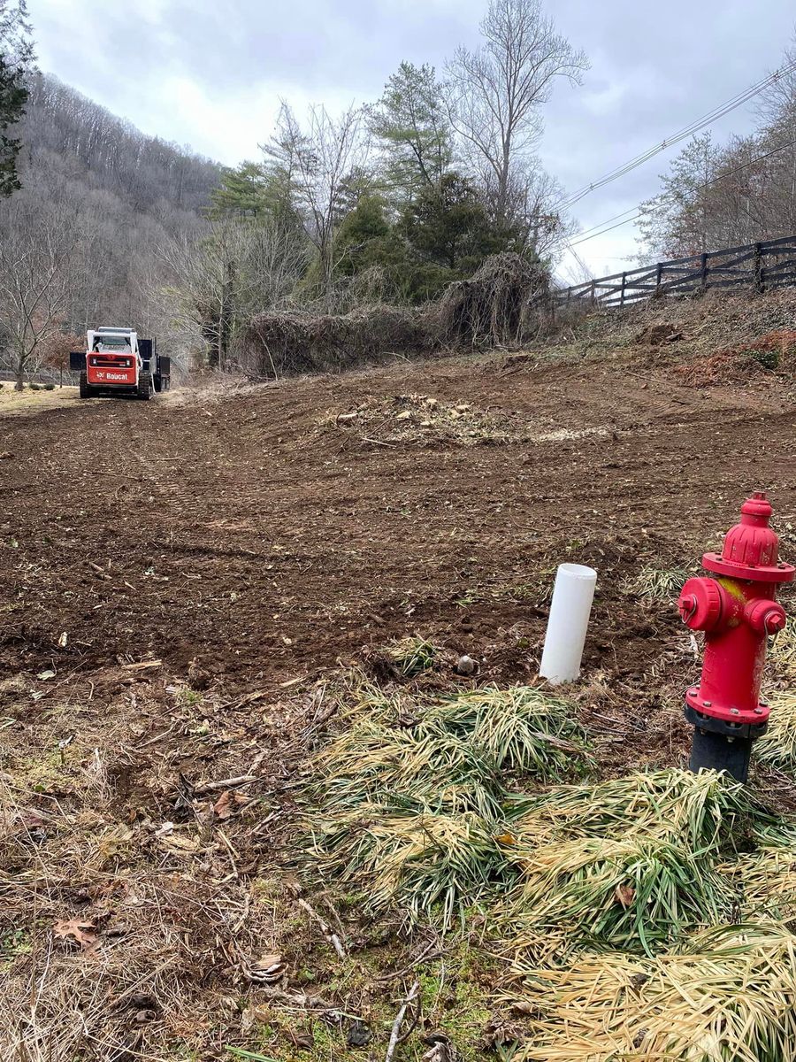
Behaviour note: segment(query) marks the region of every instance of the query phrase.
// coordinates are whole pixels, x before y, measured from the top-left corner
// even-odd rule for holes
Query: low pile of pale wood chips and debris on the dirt
[[[446,402],[429,395],[370,397],[345,413],[327,413],[322,428],[384,445],[478,446],[521,439],[526,426],[502,413],[474,409],[470,402]]]

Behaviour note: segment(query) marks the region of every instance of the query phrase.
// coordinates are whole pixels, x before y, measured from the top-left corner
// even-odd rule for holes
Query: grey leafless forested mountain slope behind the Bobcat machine
[[[171,279],[159,250],[197,234],[220,167],[144,136],[54,78],[31,75],[29,92],[22,189],[0,213],[0,264],[6,282],[16,274],[18,298],[33,303],[54,273],[28,324],[156,327]],[[21,275],[20,262],[31,263]]]

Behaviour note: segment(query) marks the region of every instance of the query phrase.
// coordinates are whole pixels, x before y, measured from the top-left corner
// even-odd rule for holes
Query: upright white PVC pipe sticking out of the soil
[[[539,674],[553,685],[574,682],[581,673],[595,583],[593,568],[584,564],[558,566],[539,666]]]

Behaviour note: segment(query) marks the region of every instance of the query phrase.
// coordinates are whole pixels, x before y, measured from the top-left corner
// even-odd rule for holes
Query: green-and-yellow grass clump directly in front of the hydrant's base
[[[785,843],[779,820],[714,771],[631,774],[559,786],[504,842],[520,873],[506,904],[515,954],[568,946],[654,952],[729,917],[738,898],[717,867],[736,843]]]

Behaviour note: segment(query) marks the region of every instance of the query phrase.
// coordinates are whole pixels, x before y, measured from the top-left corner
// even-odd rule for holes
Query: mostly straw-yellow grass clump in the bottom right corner
[[[796,937],[724,926],[654,959],[584,955],[524,972],[516,1062],[784,1062],[796,1043]]]

